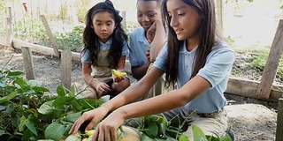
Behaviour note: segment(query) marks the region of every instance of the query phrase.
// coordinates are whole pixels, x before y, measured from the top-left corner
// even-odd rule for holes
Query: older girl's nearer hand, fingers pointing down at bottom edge
[[[119,112],[114,111],[98,124],[92,140],[117,140],[117,130],[123,122],[125,122],[123,116]]]

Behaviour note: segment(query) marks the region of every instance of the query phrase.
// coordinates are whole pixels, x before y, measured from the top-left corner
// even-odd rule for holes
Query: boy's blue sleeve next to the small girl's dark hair
[[[139,62],[137,59],[137,56],[135,55],[135,49],[134,49],[134,33],[130,34],[130,38],[129,38],[129,61],[131,63],[132,66],[138,66]]]

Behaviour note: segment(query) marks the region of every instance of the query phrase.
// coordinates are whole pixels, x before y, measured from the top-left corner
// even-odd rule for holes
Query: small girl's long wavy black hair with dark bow
[[[90,54],[89,60],[91,60],[92,63],[96,65],[97,57],[100,52],[99,47],[101,45],[98,36],[92,28],[92,19],[94,18],[96,13],[105,11],[111,13],[116,25],[116,28],[111,34],[111,48],[107,56],[110,67],[115,68],[118,65],[119,57],[122,54],[122,48],[125,43],[127,44],[128,39],[124,29],[121,26],[122,18],[119,16],[119,11],[114,8],[113,4],[109,0],[98,3],[88,10],[86,15],[86,27],[83,31],[84,48],[82,49],[82,52],[88,50]]]

